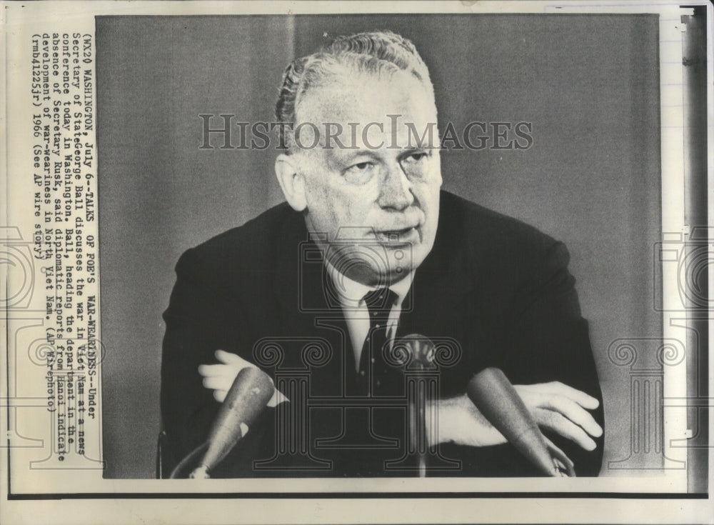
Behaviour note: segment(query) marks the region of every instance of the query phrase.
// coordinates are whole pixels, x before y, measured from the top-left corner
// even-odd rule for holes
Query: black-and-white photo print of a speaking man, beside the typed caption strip
[[[662,333],[658,24],[98,19],[106,475],[211,429],[228,477],[660,466],[608,354]],[[214,428],[251,365],[272,406]]]

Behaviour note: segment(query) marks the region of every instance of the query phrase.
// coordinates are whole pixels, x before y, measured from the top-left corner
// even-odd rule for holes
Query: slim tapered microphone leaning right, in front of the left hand
[[[211,471],[236,446],[263,412],[275,387],[268,374],[254,366],[241,370],[226,394],[211,432],[206,439],[206,454],[191,478],[208,478]]]

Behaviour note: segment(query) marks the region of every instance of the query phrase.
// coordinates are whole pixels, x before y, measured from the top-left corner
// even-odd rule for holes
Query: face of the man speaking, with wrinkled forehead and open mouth
[[[297,113],[296,129],[309,122],[320,134],[310,149],[314,129],[301,126],[304,149],[296,155],[308,230],[326,234],[328,261],[370,285],[398,281],[416,269],[431,251],[438,224],[433,96],[406,73],[363,74],[308,92]],[[328,133],[326,123],[333,123]]]

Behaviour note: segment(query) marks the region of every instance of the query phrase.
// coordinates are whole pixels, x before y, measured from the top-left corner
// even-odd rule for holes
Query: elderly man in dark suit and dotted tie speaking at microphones
[[[496,366],[578,475],[597,475],[600,386],[568,252],[441,191],[434,91],[413,44],[363,33],[297,59],[276,117],[287,202],[176,266],[161,391],[171,455],[206,439],[238,371],[257,364],[305,370],[306,386],[278,389],[214,476],[413,475],[405,371],[388,354],[423,334],[456,356],[428,401],[427,471],[538,475],[466,396]],[[267,362],[271,341],[281,359]],[[306,360],[310,341],[319,359]]]

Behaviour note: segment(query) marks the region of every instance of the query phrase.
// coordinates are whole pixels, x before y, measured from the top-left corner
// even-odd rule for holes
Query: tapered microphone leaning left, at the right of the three
[[[563,476],[560,463],[568,476],[575,476],[573,461],[550,441],[546,443],[531,412],[501,369],[490,367],[473,376],[466,394],[481,414],[543,474]]]

